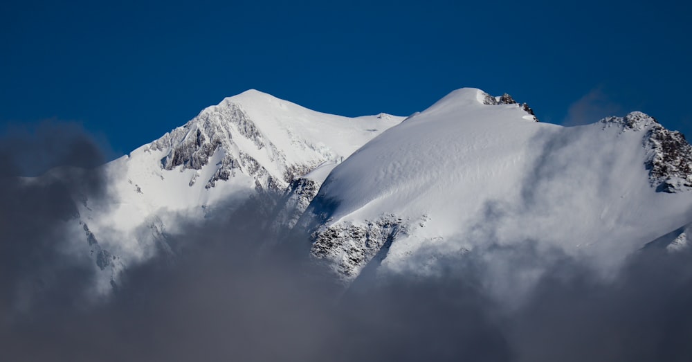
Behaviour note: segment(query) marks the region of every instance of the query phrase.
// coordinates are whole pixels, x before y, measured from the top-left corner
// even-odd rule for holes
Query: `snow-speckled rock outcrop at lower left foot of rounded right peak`
[[[345,283],[358,276],[365,264],[375,255],[383,253],[399,234],[408,233],[408,220],[386,215],[363,224],[342,222],[333,226],[320,226],[311,235],[310,254],[322,260]]]

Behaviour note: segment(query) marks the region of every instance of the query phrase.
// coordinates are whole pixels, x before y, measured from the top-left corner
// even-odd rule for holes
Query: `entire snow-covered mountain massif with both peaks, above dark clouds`
[[[80,201],[75,233],[102,291],[128,264],[174,256],[176,217],[202,219],[258,192],[282,194],[271,228],[310,235],[305,253],[344,284],[365,269],[437,273],[446,255],[489,245],[531,242],[607,268],[654,240],[688,244],[682,134],[641,112],[579,127],[537,121],[525,103],[479,89],[406,119],[321,114],[247,91],[104,165],[111,197]]]

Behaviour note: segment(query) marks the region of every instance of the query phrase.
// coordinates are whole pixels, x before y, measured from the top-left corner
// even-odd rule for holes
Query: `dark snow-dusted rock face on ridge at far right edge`
[[[661,192],[680,192],[692,188],[692,146],[685,136],[669,131],[655,118],[642,112],[631,112],[624,117],[601,120],[603,127],[616,125],[622,132],[643,132],[643,145],[647,150],[644,165],[649,170],[651,185]]]

